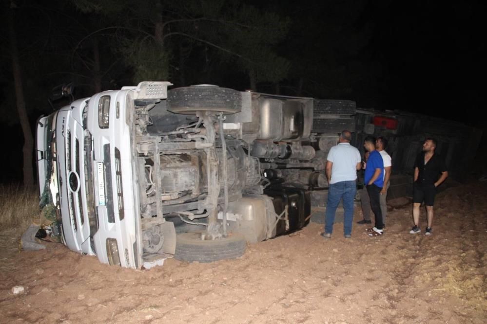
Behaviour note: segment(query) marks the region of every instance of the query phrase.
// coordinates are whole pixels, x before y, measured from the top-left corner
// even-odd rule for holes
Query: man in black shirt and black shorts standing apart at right
[[[412,218],[414,227],[410,234],[421,232],[419,228],[419,207],[424,201],[428,212],[428,227],[425,235],[431,235],[433,225],[433,204],[438,187],[448,177],[445,161],[434,152],[436,140],[427,138],[423,144],[423,152],[419,153],[414,162],[414,187]]]

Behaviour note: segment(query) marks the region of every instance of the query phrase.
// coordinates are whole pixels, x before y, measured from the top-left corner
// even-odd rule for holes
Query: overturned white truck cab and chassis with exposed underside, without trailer
[[[53,235],[102,263],[150,268],[238,257],[304,227],[354,103],[170,85],[104,91],[39,119]]]

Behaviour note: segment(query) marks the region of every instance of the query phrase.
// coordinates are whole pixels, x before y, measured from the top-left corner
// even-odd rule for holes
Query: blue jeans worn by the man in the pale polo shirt
[[[357,192],[357,183],[353,181],[341,181],[330,184],[328,188],[328,201],[325,213],[325,233],[333,233],[335,212],[340,200],[343,199],[345,215],[343,219],[343,234],[350,235],[353,221],[353,199]]]

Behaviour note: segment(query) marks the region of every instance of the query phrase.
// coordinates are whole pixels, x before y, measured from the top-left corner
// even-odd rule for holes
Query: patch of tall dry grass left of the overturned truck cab
[[[21,185],[0,184],[0,231],[22,234],[33,221],[39,222],[39,194]]]

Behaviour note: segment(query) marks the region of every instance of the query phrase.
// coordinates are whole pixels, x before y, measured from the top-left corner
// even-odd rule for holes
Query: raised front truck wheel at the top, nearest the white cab
[[[239,91],[213,85],[183,87],[167,91],[167,110],[179,114],[195,114],[196,111],[233,114],[242,109],[241,101]]]

